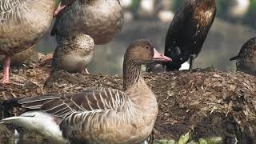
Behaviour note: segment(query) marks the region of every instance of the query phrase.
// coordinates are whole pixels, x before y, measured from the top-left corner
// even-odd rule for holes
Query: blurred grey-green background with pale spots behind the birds
[[[91,74],[122,74],[122,58],[130,42],[150,39],[164,51],[166,31],[184,0],[120,0],[125,16],[122,32],[113,42],[96,46]],[[238,54],[242,45],[256,36],[256,0],[216,0],[217,17],[194,68],[214,66],[218,70],[235,70],[229,58]],[[37,50],[48,54],[56,47],[50,32],[38,42]]]

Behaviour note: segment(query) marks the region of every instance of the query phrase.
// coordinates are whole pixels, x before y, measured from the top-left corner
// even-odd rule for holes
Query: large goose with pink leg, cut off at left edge
[[[54,0],[0,1],[0,54],[6,55],[2,83],[10,83],[10,56],[33,46],[50,28],[54,6]]]

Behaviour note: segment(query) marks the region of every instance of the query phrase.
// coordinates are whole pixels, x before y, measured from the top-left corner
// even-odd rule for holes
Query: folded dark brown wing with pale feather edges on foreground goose
[[[77,94],[48,94],[18,101],[22,107],[41,109],[57,117],[64,118],[75,112],[91,112],[95,110],[117,110],[129,98],[121,90],[102,89],[84,90]]]

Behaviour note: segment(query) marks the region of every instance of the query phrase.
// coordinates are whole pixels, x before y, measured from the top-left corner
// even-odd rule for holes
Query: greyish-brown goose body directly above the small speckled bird
[[[96,45],[110,42],[123,25],[122,7],[118,0],[61,0],[55,15],[51,35],[66,38],[88,34]]]

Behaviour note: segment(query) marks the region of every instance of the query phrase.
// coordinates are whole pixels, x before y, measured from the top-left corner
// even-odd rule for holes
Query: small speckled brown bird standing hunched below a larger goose
[[[69,73],[88,73],[94,55],[94,39],[86,34],[58,40],[58,46],[52,58],[51,72],[65,70]]]

